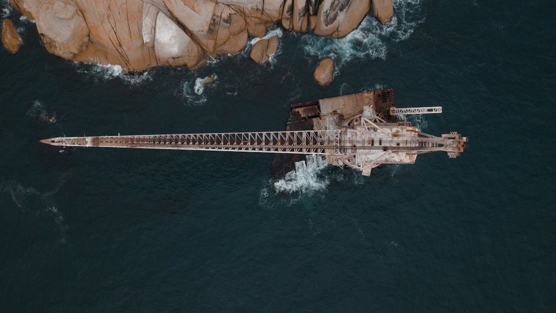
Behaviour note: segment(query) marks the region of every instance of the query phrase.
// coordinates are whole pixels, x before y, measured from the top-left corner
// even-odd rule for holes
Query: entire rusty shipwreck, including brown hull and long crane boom
[[[442,107],[394,106],[392,89],[360,92],[291,105],[285,131],[57,137],[42,143],[71,147],[214,150],[274,153],[271,171],[280,177],[307,154],[370,175],[381,164],[413,164],[419,154],[444,151],[456,158],[468,138],[455,131],[421,132],[400,116],[442,113]]]

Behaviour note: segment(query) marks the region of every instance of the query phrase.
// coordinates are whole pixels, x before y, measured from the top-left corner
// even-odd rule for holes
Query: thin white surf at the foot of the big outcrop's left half
[[[120,79],[127,85],[139,86],[144,82],[152,81],[151,71],[126,72],[120,65],[102,65],[94,63],[74,62],[76,71],[90,76],[95,82],[105,82],[113,79]]]

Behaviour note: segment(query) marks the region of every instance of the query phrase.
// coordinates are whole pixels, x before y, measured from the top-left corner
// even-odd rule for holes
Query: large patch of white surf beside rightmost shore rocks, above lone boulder
[[[388,25],[382,25],[369,14],[356,30],[339,39],[303,35],[304,51],[310,56],[334,58],[336,67],[354,58],[385,58],[387,43],[406,40],[425,21],[423,0],[394,0],[393,3],[394,17]]]

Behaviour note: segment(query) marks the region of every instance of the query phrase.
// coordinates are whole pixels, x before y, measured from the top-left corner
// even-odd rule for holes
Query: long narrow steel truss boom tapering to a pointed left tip
[[[466,141],[466,138],[461,141],[462,138],[456,133],[437,137],[421,133],[413,127],[401,129],[405,130],[400,131],[398,127],[395,133],[391,133],[390,126],[383,126],[376,131],[344,128],[255,133],[57,137],[41,142],[56,146],[320,155],[370,154],[377,150],[417,154],[446,151],[459,155]]]

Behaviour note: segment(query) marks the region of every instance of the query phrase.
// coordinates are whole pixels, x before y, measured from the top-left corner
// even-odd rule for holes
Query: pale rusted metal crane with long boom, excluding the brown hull
[[[441,113],[441,107],[390,107],[390,115]],[[337,110],[320,114],[317,130],[254,133],[117,135],[57,137],[41,140],[55,146],[104,148],[214,150],[322,155],[332,165],[370,175],[380,164],[413,164],[419,154],[445,151],[456,158],[468,138],[452,132],[441,136],[422,133],[406,121],[386,121],[373,104],[344,118]]]

